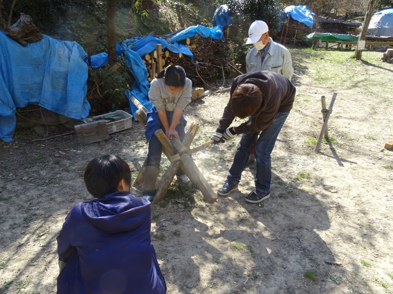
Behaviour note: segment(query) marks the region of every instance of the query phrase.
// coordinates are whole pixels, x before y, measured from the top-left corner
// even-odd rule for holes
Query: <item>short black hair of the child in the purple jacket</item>
[[[96,157],[84,169],[84,184],[87,191],[95,198],[101,198],[118,191],[121,180],[131,187],[131,170],[120,157],[107,154]]]

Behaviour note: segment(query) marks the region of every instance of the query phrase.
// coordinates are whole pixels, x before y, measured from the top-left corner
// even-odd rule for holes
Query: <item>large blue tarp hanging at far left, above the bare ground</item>
[[[87,54],[76,42],[44,35],[26,47],[0,32],[0,139],[12,141],[16,108],[28,104],[73,119],[88,116]]]

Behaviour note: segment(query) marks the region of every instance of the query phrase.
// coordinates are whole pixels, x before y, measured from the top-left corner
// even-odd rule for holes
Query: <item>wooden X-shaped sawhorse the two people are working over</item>
[[[139,122],[144,127],[146,127],[146,123],[147,123],[146,108],[144,108],[136,98],[131,97],[130,99],[138,107],[138,110],[135,112],[134,115],[138,118]],[[161,144],[163,145],[163,152],[169,159],[171,156],[175,155],[179,151],[190,147],[191,143],[195,138],[195,135],[197,134],[198,128],[199,125],[197,123],[192,123],[186,133],[186,136],[183,139],[183,142],[180,142],[175,138],[172,138],[171,141],[169,141],[167,136],[164,134],[164,132],[161,129],[155,131],[154,135],[158,138],[158,140],[160,140]],[[138,173],[136,179],[132,184],[133,187],[137,187],[138,185],[143,184],[146,161],[147,158],[144,161],[140,169],[140,172]],[[202,192],[203,199],[206,202],[214,203],[217,200],[217,194],[213,192],[213,189],[210,187],[209,183],[203,177],[202,173],[199,171],[197,165],[194,163],[191,156],[189,154],[182,154],[180,156],[180,160],[172,162],[168,170],[161,178],[161,182],[157,189],[157,193],[153,200],[153,204],[158,203],[164,199],[165,195],[168,192],[169,186],[179,168],[188,176],[188,178],[194,184],[198,186],[199,190]]]

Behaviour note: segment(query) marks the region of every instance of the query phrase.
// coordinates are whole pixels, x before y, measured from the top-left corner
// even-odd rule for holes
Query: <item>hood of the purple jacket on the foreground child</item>
[[[102,198],[81,203],[84,216],[107,233],[121,233],[138,228],[150,219],[150,202],[133,196],[128,191],[118,191]]]

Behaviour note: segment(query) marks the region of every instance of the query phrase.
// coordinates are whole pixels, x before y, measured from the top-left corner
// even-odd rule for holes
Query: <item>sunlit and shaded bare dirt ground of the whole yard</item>
[[[214,204],[195,185],[174,181],[152,207],[168,293],[393,293],[393,152],[384,149],[393,139],[393,65],[378,61],[382,52],[365,52],[357,64],[351,53],[332,52],[291,50],[297,98],[272,153],[269,199],[244,200],[254,189],[252,164],[239,191]],[[331,143],[315,153],[320,98],[329,105],[333,93]],[[228,93],[210,95],[187,107],[188,123],[200,126],[192,147],[209,140],[227,100]],[[56,293],[56,236],[72,206],[92,198],[84,167],[112,153],[136,174],[147,147],[138,122],[104,147],[81,146],[75,135],[32,139],[20,132],[0,143],[0,293]],[[193,156],[214,191],[239,139]],[[163,159],[162,170],[168,165]],[[132,192],[141,196],[141,187]]]

